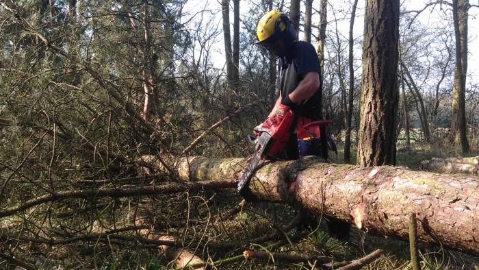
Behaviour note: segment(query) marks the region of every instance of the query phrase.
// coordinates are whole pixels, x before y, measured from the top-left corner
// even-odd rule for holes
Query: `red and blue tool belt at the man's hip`
[[[299,156],[321,156],[328,159],[327,125],[332,121],[313,121],[298,116],[296,136],[298,137]]]

